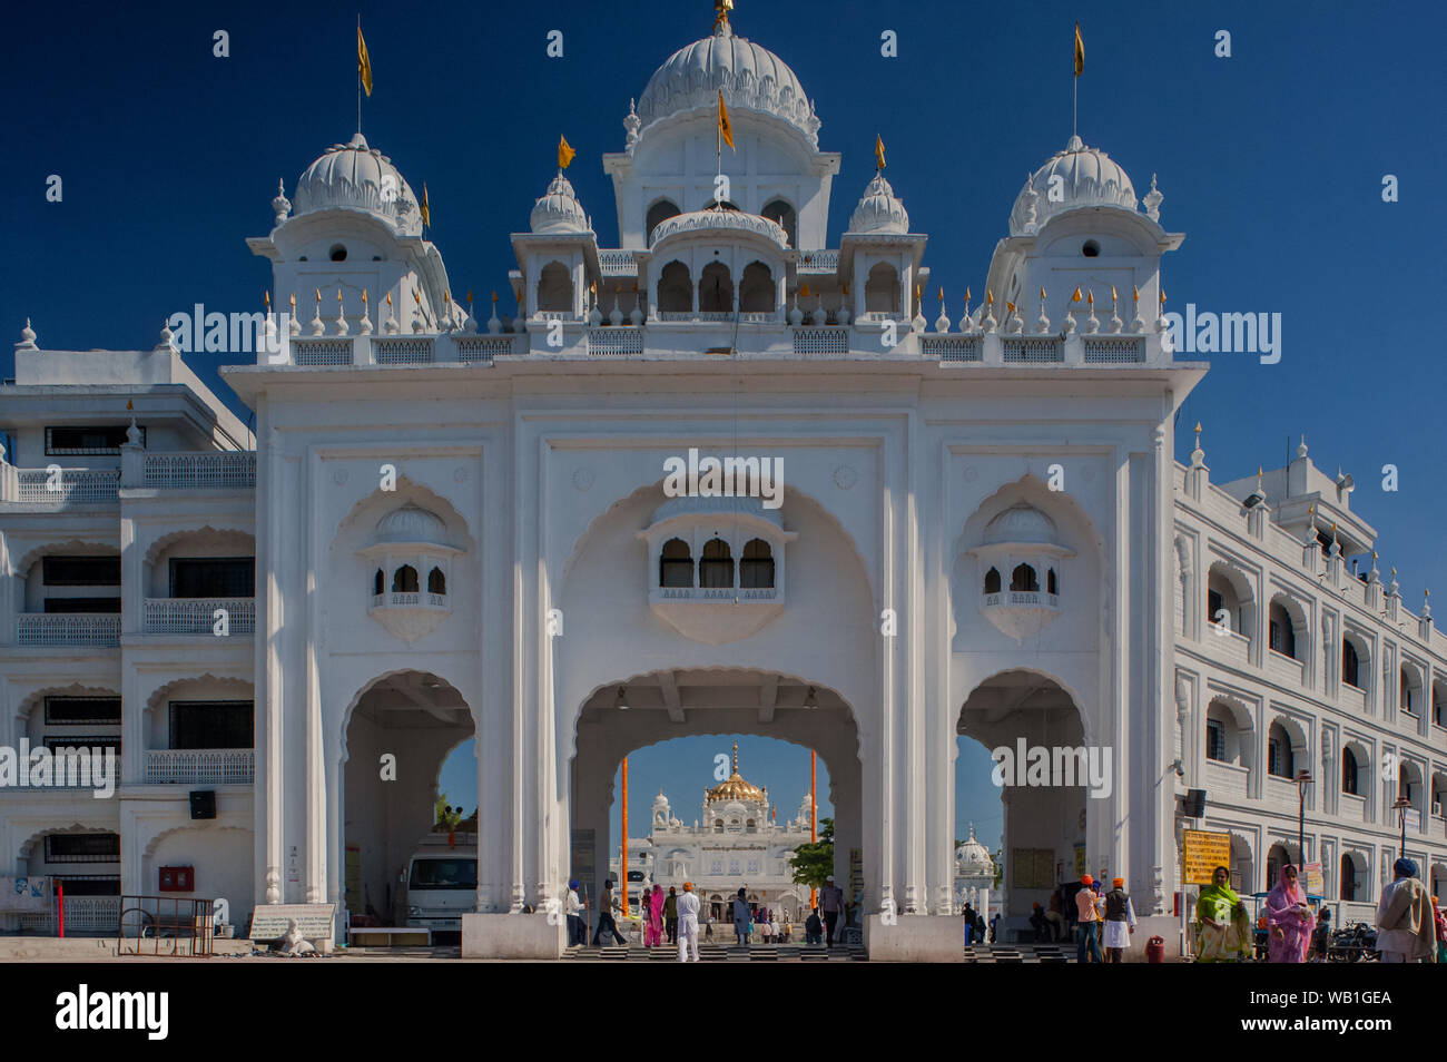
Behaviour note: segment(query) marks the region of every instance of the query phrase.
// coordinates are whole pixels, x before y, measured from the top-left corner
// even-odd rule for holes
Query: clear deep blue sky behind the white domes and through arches
[[[243,240],[271,227],[276,178],[289,192],[355,129],[357,10],[9,4],[0,327],[17,339],[29,315],[42,349],[135,349],[194,302],[258,308],[269,271]],[[454,289],[479,294],[504,286],[508,233],[527,226],[560,133],[579,152],[569,175],[585,207],[615,240],[599,156],[622,148],[628,100],[653,69],[712,23],[708,0],[363,3],[360,14],[375,71],[363,132],[415,188],[427,182],[430,236]],[[1356,475],[1353,506],[1417,608],[1422,587],[1447,586],[1447,505],[1427,444],[1441,420],[1447,281],[1440,4],[738,0],[734,26],[793,67],[823,120],[820,146],[844,152],[831,233],[873,172],[880,133],[958,314],[964,288],[984,286],[1026,174],[1069,136],[1077,19],[1081,136],[1137,192],[1156,172],[1163,224],[1188,234],[1163,266],[1171,308],[1283,318],[1278,365],[1207,359],[1176,456],[1201,420],[1208,464],[1234,479],[1282,463],[1288,438],[1305,433],[1321,466]],[[224,59],[213,56],[217,29],[230,33]],[[551,29],[564,35],[561,59],[546,55]],[[880,55],[886,29],[899,58]],[[1229,59],[1214,55],[1220,29],[1231,33]],[[61,203],[45,200],[51,174],[62,177]],[[1398,203],[1382,201],[1386,174]],[[214,356],[192,365],[217,379]],[[1396,493],[1380,490],[1388,463],[1401,472]],[[632,761],[653,787],[634,815],[647,812],[654,778],[680,796],[708,780],[708,757],[670,762],[671,749]],[[797,804],[790,778],[807,757],[800,768],[778,744],[745,755],[751,778]],[[983,786],[962,794],[961,822],[975,817],[993,844],[998,803]]]

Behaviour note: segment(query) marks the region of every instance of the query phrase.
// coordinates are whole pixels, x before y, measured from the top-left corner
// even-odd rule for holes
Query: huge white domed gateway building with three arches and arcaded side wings
[[[396,166],[334,145],[249,242],[305,318],[226,369],[255,433],[175,334],[80,353],[27,326],[0,388],[0,745],[111,747],[120,777],[110,799],[6,781],[0,874],[62,880],[98,925],[164,874],[239,923],[386,912],[475,736],[464,951],[556,953],[563,927],[514,912],[580,868],[596,894],[621,758],[757,734],[825,758],[871,953],[959,958],[964,734],[1113,765],[1094,796],[1004,790],[1011,916],[1090,868],[1169,923],[1188,789],[1260,888],[1301,858],[1304,770],[1334,901],[1375,901],[1398,796],[1440,890],[1447,642],[1305,446],[1226,483],[1200,447],[1174,460],[1205,366],[1175,360],[1160,313],[1184,237],[1155,181],[1137,201],[1072,137],[983,282],[936,278],[901,194],[942,178],[878,172],[829,233],[819,127],[721,17],[603,159],[616,246],[540,174],[476,311]],[[718,496],[721,459],[781,490]]]

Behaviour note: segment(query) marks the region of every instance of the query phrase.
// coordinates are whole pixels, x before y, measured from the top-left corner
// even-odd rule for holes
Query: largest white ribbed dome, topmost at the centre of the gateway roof
[[[638,100],[638,117],[647,129],[669,114],[715,107],[721,90],[731,113],[773,114],[818,146],[819,119],[789,64],[767,48],[734,36],[728,22],[680,48],[654,71]]]

